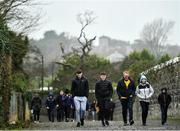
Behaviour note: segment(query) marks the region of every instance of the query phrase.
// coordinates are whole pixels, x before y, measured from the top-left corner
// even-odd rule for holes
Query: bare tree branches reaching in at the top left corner
[[[27,33],[36,27],[40,20],[40,12],[32,13],[38,3],[35,0],[1,0],[0,20],[13,30]]]

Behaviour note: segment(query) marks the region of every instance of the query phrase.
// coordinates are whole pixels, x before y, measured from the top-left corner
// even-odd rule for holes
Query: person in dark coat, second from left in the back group
[[[48,112],[49,121],[54,122],[54,113],[56,108],[56,100],[52,93],[50,93],[46,100],[46,109]]]

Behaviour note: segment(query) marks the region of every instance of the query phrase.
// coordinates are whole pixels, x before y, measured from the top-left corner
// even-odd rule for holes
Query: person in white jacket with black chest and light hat
[[[142,109],[142,125],[146,126],[146,119],[148,116],[149,102],[151,96],[154,94],[152,86],[147,82],[146,76],[142,75],[140,83],[136,88],[136,95],[139,97]]]

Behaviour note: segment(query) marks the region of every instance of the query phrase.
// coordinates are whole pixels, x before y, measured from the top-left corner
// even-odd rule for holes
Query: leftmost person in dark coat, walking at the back
[[[42,101],[38,94],[35,94],[31,101],[31,110],[34,114],[34,122],[39,123],[40,110],[42,107]]]

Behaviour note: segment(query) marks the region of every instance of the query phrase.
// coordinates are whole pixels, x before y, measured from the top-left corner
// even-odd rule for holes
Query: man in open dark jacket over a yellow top
[[[127,111],[129,111],[129,124],[133,125],[133,98],[135,96],[135,84],[134,81],[129,77],[129,72],[123,72],[123,79],[117,84],[117,94],[122,105],[122,115],[124,126],[127,126]]]

